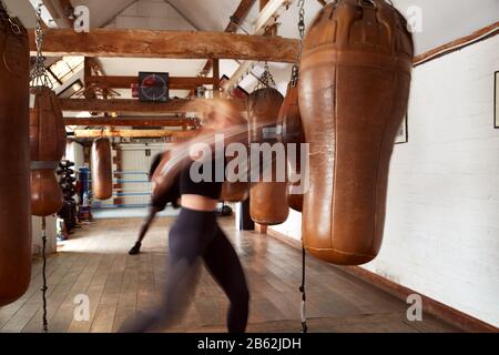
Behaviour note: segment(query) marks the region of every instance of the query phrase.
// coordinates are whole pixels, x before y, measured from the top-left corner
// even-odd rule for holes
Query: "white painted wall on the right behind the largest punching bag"
[[[499,37],[415,69],[391,160],[385,242],[367,270],[499,326]],[[301,215],[274,227],[299,240]]]

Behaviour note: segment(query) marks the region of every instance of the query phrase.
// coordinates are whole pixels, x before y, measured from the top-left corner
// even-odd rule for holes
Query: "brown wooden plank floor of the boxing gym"
[[[65,242],[48,263],[51,332],[115,332],[135,312],[159,302],[166,281],[166,235],[171,217],[160,219],[143,253],[129,256],[141,220],[102,220]],[[301,252],[256,233],[236,232],[222,220],[240,254],[251,294],[249,332],[301,332]],[[18,302],[0,308],[0,332],[41,331],[41,263],[33,265],[31,286]],[[90,321],[74,321],[73,300],[90,298]],[[424,315],[408,322],[407,305],[342,271],[309,258],[307,315],[310,332],[457,332]],[[224,294],[203,271],[195,301],[173,332],[225,332]]]

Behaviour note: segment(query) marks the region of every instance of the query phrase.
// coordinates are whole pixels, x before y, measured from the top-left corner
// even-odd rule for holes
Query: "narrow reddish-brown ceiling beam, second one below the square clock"
[[[196,126],[197,120],[193,119],[162,119],[162,118],[143,118],[143,119],[113,119],[113,118],[64,118],[64,125],[80,126]]]

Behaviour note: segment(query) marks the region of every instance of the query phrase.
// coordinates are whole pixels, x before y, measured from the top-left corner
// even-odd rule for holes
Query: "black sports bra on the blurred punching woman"
[[[218,200],[222,193],[222,183],[225,179],[225,161],[223,158],[220,158],[218,165],[216,164],[216,160],[212,160],[210,165],[212,170],[211,173],[206,172],[206,174],[204,174],[204,164],[202,165],[194,161],[187,164],[180,173],[180,194],[201,195],[212,200]],[[223,168],[223,172],[220,172],[223,173],[223,175],[218,176],[221,178],[218,180],[216,179],[215,173],[217,168]],[[191,172],[191,170],[193,171]]]

